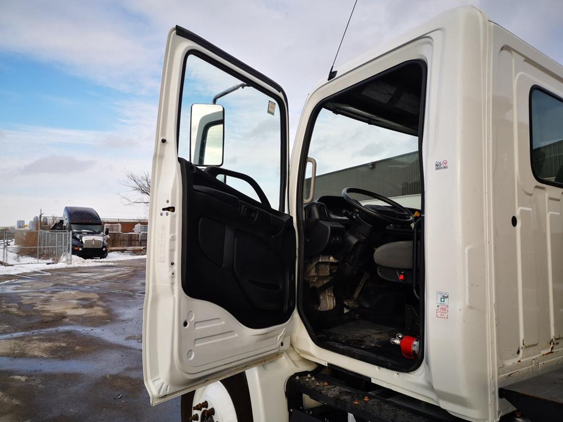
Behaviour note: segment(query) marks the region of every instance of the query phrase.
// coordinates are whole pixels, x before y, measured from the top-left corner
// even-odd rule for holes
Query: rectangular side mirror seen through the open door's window
[[[190,158],[195,165],[223,164],[225,109],[219,104],[193,104],[190,113]]]

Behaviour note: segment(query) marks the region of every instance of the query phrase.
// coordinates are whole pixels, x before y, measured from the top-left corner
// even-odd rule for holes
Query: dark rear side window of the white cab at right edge
[[[563,99],[532,88],[530,125],[531,168],[535,178],[563,186]]]

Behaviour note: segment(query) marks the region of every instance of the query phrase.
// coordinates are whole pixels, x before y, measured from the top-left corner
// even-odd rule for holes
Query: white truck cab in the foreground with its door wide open
[[[291,165],[288,124],[273,80],[169,32],[151,403],[220,422],[561,420],[563,67],[456,8],[313,89]]]

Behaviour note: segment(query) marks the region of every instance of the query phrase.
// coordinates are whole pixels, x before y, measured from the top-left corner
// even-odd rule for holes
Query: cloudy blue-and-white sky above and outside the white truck
[[[563,62],[561,0],[359,0],[337,60],[463,4]],[[0,0],[0,225],[39,208],[95,206],[145,217],[118,193],[150,170],[166,37],[202,35],[280,83],[291,140],[309,90],[328,74],[353,0]]]

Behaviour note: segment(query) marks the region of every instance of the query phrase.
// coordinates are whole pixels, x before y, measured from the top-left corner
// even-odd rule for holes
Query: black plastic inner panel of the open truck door
[[[182,288],[241,324],[287,321],[294,307],[293,219],[178,158],[182,169]]]

